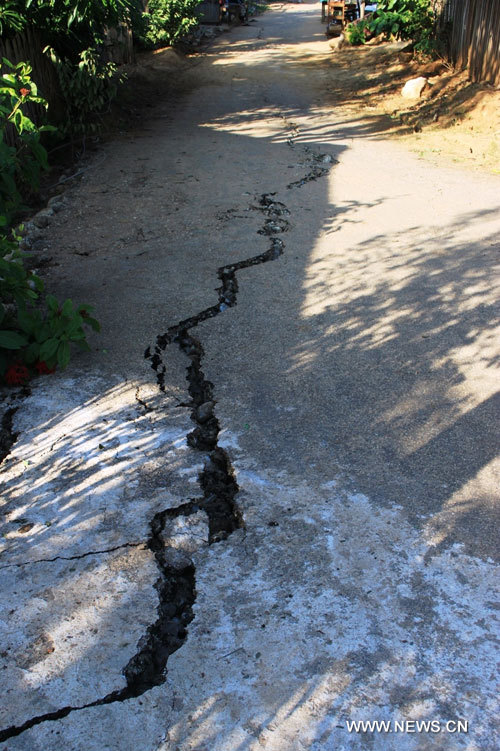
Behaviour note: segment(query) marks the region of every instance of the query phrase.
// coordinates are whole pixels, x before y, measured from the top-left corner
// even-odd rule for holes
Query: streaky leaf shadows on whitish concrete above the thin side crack
[[[104,381],[88,379],[87,394],[92,386],[102,388]],[[54,401],[53,387],[59,392]],[[134,400],[133,385],[103,388],[86,399],[82,394],[78,406],[74,388],[73,380],[63,378],[37,384],[23,405],[21,437],[2,467],[1,552],[11,565],[145,541],[153,509],[138,470],[146,482],[148,461],[157,461],[161,451],[169,456],[172,481],[185,459],[182,420],[176,428],[168,425],[167,413],[159,420],[153,407],[145,411]],[[43,422],[28,427],[40,400],[53,414],[46,412]],[[67,409],[61,414],[63,404]]]

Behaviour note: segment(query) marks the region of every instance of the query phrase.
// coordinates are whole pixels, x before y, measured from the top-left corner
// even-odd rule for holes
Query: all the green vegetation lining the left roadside
[[[48,99],[39,95],[30,60],[0,66],[0,382],[25,385],[65,368],[72,345],[88,349],[99,330],[87,304],[45,295],[29,265],[28,227],[19,224],[49,170],[48,149],[85,144],[98,134],[121,76],[107,58],[110,29],[132,29],[137,44],[173,44],[198,23],[199,0],[6,0],[0,44],[28,38],[52,66]],[[10,47],[8,46],[10,44]],[[43,58],[42,58],[43,59]],[[49,124],[50,123],[50,124]],[[51,209],[47,209],[47,214]],[[42,212],[43,213],[43,212]],[[43,219],[43,217],[41,217]],[[29,223],[28,223],[29,224]]]

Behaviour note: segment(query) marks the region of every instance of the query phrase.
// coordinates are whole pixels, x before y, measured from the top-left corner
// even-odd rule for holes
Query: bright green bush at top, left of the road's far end
[[[149,0],[140,41],[145,47],[171,45],[198,25],[200,0]]]

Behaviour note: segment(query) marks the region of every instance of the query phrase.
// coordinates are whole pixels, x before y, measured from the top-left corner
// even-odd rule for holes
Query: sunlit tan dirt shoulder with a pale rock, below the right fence
[[[475,84],[441,61],[425,61],[401,43],[349,47],[332,55],[327,101],[361,113],[367,130],[397,138],[435,164],[500,173],[500,92]],[[427,78],[420,99],[403,85]]]

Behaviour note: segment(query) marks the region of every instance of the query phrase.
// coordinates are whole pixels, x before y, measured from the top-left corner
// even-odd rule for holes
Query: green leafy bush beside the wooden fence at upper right
[[[431,0],[379,0],[369,26],[374,35],[411,39],[415,49],[431,51],[433,47],[435,18]]]

